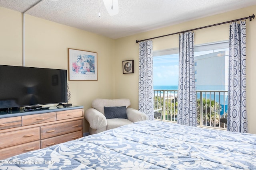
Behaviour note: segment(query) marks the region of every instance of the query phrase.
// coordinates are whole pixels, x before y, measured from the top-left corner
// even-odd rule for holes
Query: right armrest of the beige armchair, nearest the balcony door
[[[126,109],[126,114],[127,114],[128,120],[130,120],[132,122],[148,120],[149,119],[148,115],[146,115],[145,113],[143,113],[141,111],[133,109],[131,107],[128,107]]]

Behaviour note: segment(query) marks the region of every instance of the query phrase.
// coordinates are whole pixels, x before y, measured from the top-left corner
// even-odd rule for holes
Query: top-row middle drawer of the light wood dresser
[[[56,121],[56,112],[22,116],[22,126]]]

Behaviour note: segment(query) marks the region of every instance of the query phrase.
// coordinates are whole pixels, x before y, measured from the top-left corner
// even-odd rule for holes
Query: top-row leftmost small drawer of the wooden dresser
[[[0,119],[0,130],[21,126],[21,116]]]

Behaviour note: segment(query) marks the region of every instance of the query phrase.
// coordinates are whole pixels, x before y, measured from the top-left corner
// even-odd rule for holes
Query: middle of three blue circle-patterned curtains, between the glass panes
[[[194,32],[180,34],[178,124],[197,126]]]

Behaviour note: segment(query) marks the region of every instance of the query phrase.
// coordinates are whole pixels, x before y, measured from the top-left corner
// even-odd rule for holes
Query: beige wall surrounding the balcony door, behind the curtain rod
[[[194,21],[180,23],[177,25],[156,29],[137,35],[132,35],[115,40],[115,65],[120,65],[124,60],[134,59],[134,74],[122,74],[122,68],[117,67],[114,73],[115,77],[115,98],[127,97],[130,98],[132,107],[138,108],[138,56],[139,45],[136,44],[136,40],[148,39],[151,37],[157,37],[160,35],[175,33],[183,30],[193,29],[206,25],[212,25],[214,23],[220,23],[229,20],[235,20],[238,18],[244,18],[251,16],[256,11],[256,6],[248,8],[242,8],[232,12],[226,12],[214,16],[208,16]],[[256,39],[256,19],[253,21],[246,20],[246,80],[247,80],[247,112],[248,112],[248,131],[249,133],[256,134],[256,113],[254,111],[254,105],[256,101],[256,90],[254,84],[256,79],[254,78],[254,72],[256,72],[256,48],[254,41]],[[210,43],[216,41],[224,41],[229,39],[229,24],[219,25],[215,27],[209,27],[194,31],[195,33],[195,45],[202,43]],[[162,37],[153,39],[153,50],[163,50],[177,48],[179,45],[178,35],[171,35],[168,37]]]

